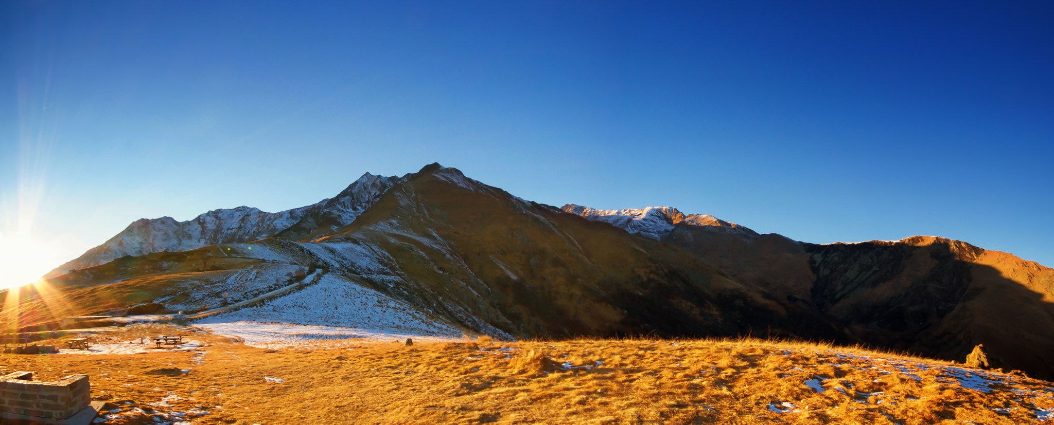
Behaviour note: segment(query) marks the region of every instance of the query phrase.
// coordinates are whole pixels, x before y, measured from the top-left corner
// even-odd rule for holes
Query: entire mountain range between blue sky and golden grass
[[[276,215],[236,210],[134,224],[103,245],[122,254],[113,261],[0,292],[18,297],[0,323],[157,303],[213,321],[380,328],[409,317],[500,339],[753,335],[959,361],[984,344],[1054,378],[1054,270],[960,241],[812,244],[672,207],[557,208],[440,164],[367,174]],[[183,237],[186,223],[200,230]],[[125,240],[169,250],[111,243]],[[363,300],[380,301],[355,313]]]

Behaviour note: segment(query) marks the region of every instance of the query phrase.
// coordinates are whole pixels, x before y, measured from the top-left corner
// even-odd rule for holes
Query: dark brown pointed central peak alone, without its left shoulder
[[[466,327],[483,321],[516,338],[837,337],[833,327],[686,251],[525,201],[438,164],[317,243],[335,252],[369,247],[398,276],[376,280],[376,289]],[[331,272],[344,261],[362,261],[360,255],[341,257]]]

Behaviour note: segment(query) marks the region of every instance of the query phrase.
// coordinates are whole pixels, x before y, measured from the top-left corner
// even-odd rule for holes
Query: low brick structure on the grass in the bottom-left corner
[[[86,375],[55,382],[33,381],[33,372],[0,376],[0,413],[62,420],[92,402]]]

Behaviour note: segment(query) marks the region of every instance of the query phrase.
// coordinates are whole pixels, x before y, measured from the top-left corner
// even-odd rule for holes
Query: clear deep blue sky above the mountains
[[[431,162],[1054,266],[1054,3],[652,3],[3,2],[0,279]]]

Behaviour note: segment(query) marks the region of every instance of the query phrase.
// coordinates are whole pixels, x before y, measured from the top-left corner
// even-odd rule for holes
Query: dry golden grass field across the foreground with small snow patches
[[[143,333],[138,329],[97,339],[129,341]],[[193,408],[210,412],[187,417],[202,424],[1021,424],[1037,422],[1036,407],[1054,407],[1048,382],[1007,376],[1006,385],[983,393],[943,379],[950,363],[822,344],[481,338],[297,351],[194,338],[211,345],[145,355],[0,355],[0,372],[31,370],[40,380],[86,373],[93,397],[121,409],[108,422],[114,424],[154,423],[147,409]],[[814,379],[822,392],[805,384]],[[164,397],[171,407],[150,405]],[[786,409],[784,402],[800,411],[773,411]]]

